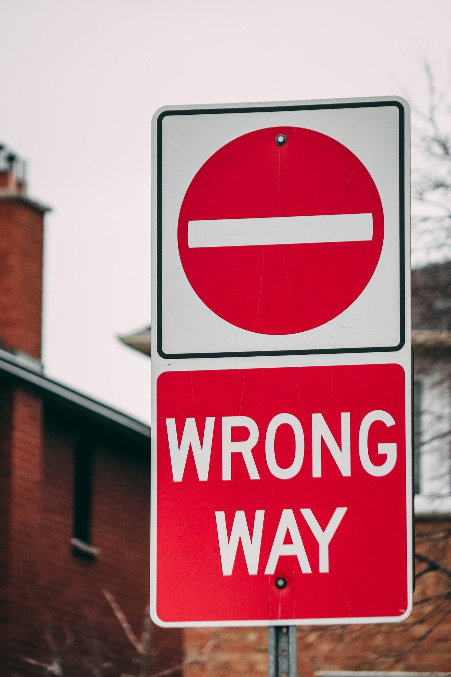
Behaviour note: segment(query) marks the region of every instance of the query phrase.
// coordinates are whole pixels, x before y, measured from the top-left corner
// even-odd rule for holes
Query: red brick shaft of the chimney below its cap
[[[0,339],[41,357],[43,215],[0,200]]]

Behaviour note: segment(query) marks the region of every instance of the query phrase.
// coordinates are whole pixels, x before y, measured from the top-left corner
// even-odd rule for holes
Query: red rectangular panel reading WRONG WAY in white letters
[[[160,374],[158,622],[407,615],[404,386],[398,364]]]

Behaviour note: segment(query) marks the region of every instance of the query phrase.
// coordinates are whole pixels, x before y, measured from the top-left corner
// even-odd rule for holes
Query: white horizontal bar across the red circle
[[[211,219],[188,223],[190,247],[311,244],[372,240],[372,214]]]

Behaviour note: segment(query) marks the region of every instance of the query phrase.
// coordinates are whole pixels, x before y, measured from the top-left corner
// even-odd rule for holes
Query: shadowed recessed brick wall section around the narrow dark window
[[[94,446],[91,542],[99,548],[95,561],[70,552],[72,477],[72,434],[50,425],[44,450],[44,622],[53,626],[60,642],[70,630],[74,637],[70,665],[77,656],[99,651],[106,663],[134,674],[137,654],[102,591],[114,595],[135,636],[141,638],[149,586],[148,454],[105,441]],[[152,630],[156,653],[152,672],[180,663],[181,632]],[[77,667],[77,677],[85,674]]]

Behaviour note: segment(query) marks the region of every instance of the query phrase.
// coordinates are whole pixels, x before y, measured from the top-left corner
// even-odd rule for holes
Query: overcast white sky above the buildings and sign
[[[46,372],[150,421],[150,120],[165,104],[424,93],[449,0],[0,0],[0,141],[53,206]]]

